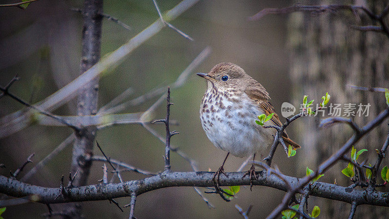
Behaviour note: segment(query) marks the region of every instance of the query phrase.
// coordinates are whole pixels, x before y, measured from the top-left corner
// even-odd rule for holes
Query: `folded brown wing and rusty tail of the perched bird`
[[[259,85],[260,85],[260,88],[262,88],[265,91],[265,88],[263,88],[261,84],[259,84]],[[275,112],[274,107],[268,101],[268,99],[270,99],[270,97],[268,97],[268,93],[266,91],[265,91],[265,93],[261,92],[262,89],[258,89],[256,91],[255,90],[248,90],[248,91],[245,91],[245,92],[251,98],[251,100],[253,102],[255,102],[258,105],[258,107],[260,107],[264,111],[266,116],[271,114],[271,113],[274,113],[274,115],[270,119],[270,121],[272,121],[274,125],[282,126],[280,118],[278,117],[277,113]],[[287,145],[291,145],[291,146],[293,146],[293,148],[300,148],[301,147],[297,143],[292,141],[288,137],[288,135],[286,134],[285,131],[283,132],[283,136],[282,137],[283,137],[283,141]]]

